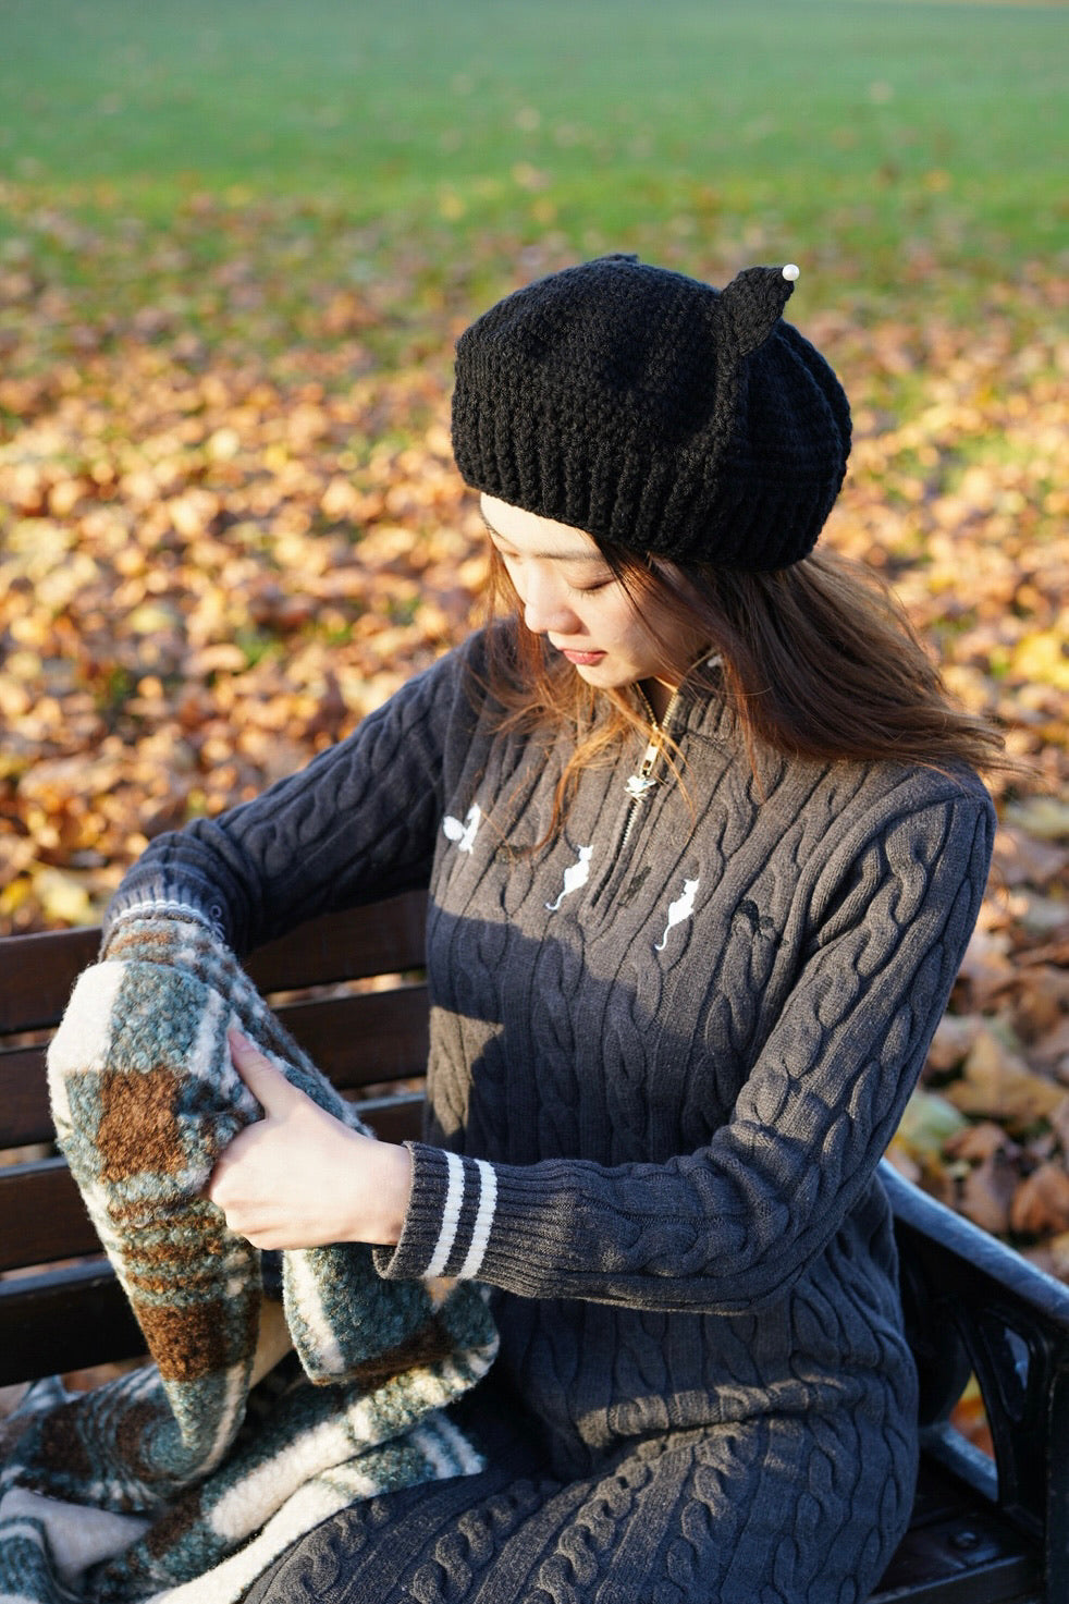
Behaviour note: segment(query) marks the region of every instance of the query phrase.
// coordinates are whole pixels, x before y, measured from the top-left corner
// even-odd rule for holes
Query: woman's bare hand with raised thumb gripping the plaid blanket
[[[263,1108],[220,1155],[207,1195],[255,1248],[332,1241],[396,1243],[412,1161],[404,1147],[361,1136],[290,1086],[237,1031],[234,1068]]]

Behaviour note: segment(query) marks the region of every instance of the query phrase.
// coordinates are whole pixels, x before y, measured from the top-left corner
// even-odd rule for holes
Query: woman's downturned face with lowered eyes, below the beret
[[[545,635],[575,670],[599,690],[647,682],[662,712],[702,638],[681,632],[656,598],[635,600],[614,576],[596,542],[582,529],[482,496],[482,518],[516,589],[527,629]],[[670,640],[672,653],[662,640]],[[659,696],[657,688],[667,695]],[[657,707],[660,703],[660,707]]]

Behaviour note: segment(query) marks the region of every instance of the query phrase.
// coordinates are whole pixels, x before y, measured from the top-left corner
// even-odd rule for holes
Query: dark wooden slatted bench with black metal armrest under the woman
[[[388,1139],[420,1123],[423,916],[422,895],[396,897],[373,914],[308,924],[248,964],[290,1031]],[[51,1139],[45,1043],[96,948],[95,930],[0,940],[0,1148]],[[914,1525],[873,1604],[1069,1604],[1069,1288],[885,1171],[922,1376],[923,1463]],[[141,1349],[64,1161],[30,1155],[0,1168],[0,1386]],[[949,1421],[970,1375],[994,1463]]]

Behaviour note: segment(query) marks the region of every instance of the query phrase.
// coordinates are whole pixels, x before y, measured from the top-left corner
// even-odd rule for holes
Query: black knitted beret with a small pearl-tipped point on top
[[[614,255],[516,290],[457,343],[460,473],[625,550],[798,561],[843,483],[849,406],[781,316],[795,274],[716,290]]]

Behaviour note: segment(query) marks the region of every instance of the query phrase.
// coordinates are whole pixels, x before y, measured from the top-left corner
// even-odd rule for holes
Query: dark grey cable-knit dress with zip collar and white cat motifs
[[[476,1477],[335,1516],[256,1604],[861,1604],[910,1513],[914,1370],[875,1179],[973,929],[966,772],[769,759],[720,696],[587,770],[495,730],[482,638],[305,773],[160,837],[114,911],[239,951],[430,885],[430,1128],[388,1277],[494,1288]],[[474,672],[473,672],[474,670]],[[373,913],[369,914],[373,917]]]

